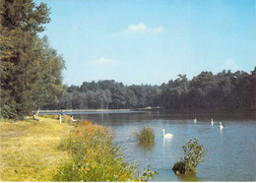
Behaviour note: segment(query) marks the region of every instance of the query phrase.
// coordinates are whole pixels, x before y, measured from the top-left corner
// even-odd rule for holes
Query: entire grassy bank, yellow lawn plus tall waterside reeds
[[[111,129],[56,118],[0,122],[1,181],[142,181],[156,174],[125,162]]]

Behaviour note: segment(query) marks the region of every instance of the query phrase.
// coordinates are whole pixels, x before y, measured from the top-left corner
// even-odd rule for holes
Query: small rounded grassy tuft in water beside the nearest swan
[[[155,133],[152,128],[143,127],[143,129],[139,133],[135,133],[135,138],[140,143],[154,143],[155,142]]]

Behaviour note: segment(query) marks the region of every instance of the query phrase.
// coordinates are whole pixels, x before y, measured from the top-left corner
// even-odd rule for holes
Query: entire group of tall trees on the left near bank
[[[1,117],[29,114],[58,103],[64,88],[63,57],[38,33],[50,22],[45,3],[2,0],[0,10]]]

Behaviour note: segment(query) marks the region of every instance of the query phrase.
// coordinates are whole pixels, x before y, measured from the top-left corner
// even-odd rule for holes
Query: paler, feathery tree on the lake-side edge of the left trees
[[[46,35],[40,41],[40,51],[41,58],[37,60],[38,70],[32,89],[32,100],[37,107],[48,103],[56,105],[64,91],[61,71],[65,68],[65,63],[62,55],[58,55],[55,49],[49,47]]]

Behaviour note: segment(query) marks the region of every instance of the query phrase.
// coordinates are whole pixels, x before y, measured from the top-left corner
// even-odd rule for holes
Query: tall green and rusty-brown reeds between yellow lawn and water
[[[124,160],[119,147],[112,146],[113,133],[91,122],[79,123],[71,137],[60,147],[72,153],[72,160],[62,164],[54,181],[139,181],[154,178],[149,168],[134,178],[136,166]]]

